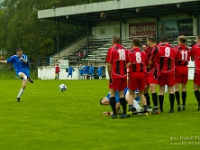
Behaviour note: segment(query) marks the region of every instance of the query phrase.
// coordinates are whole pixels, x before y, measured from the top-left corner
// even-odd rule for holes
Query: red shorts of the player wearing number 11
[[[175,67],[175,81],[176,83],[187,84],[187,81],[188,81],[188,67],[187,66]]]

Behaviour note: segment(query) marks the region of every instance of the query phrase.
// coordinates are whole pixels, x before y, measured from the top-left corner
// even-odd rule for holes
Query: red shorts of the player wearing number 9
[[[175,76],[173,74],[161,73],[158,83],[160,86],[174,86],[175,85]]]

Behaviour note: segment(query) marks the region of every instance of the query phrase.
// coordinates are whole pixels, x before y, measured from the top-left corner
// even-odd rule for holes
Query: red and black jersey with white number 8
[[[129,72],[146,72],[147,56],[146,53],[139,49],[131,49],[128,53]]]

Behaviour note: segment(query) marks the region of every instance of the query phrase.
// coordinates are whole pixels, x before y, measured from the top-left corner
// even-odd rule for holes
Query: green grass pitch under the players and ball
[[[67,85],[60,92],[58,85]],[[200,111],[188,84],[186,110],[110,119],[99,99],[108,92],[107,80],[35,80],[16,102],[21,81],[0,80],[1,150],[197,150]],[[177,106],[177,105],[175,105]],[[177,108],[177,107],[175,107]],[[185,139],[183,139],[185,138]],[[188,139],[186,139],[188,138]],[[192,139],[189,139],[192,138]]]

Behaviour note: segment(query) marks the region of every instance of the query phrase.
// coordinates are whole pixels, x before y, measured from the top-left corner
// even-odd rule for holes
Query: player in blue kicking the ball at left
[[[7,60],[0,60],[0,63],[12,63],[16,75],[22,79],[22,87],[17,95],[17,102],[20,102],[20,97],[26,88],[27,82],[33,83],[33,80],[30,78],[28,57],[23,54],[20,48],[16,50],[16,53],[17,55],[13,55]]]

